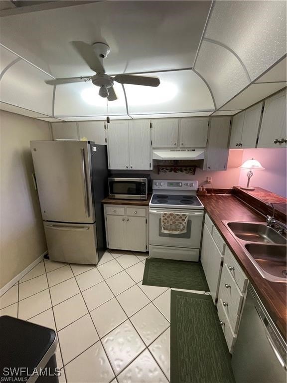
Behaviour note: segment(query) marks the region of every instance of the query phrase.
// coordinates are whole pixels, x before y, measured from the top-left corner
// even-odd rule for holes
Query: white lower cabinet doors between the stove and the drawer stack
[[[218,295],[222,259],[222,254],[218,250],[207,226],[204,224],[200,261],[214,304]]]

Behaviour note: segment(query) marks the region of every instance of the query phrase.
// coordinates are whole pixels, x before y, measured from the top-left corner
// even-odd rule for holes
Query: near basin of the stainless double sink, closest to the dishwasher
[[[273,277],[286,280],[286,246],[247,243],[245,248],[259,267],[273,280]]]

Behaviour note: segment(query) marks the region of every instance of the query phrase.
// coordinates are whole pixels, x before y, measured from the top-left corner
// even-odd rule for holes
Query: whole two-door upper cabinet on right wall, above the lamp
[[[256,148],[262,102],[233,117],[230,149]]]

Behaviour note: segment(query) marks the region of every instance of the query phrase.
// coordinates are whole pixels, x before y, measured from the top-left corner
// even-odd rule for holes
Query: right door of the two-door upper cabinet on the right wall
[[[245,111],[240,146],[243,149],[256,148],[262,105],[260,102]]]

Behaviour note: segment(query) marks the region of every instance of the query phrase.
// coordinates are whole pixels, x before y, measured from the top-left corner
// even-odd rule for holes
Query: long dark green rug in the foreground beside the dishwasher
[[[170,383],[235,383],[211,296],[172,290],[170,312]]]

